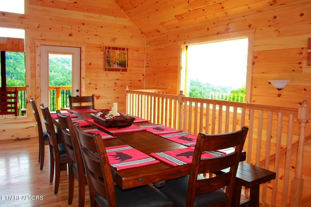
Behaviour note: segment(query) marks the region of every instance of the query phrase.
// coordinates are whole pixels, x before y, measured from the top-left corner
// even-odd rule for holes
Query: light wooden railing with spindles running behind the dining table
[[[299,206],[301,202],[303,142],[309,119],[307,104],[302,101],[297,109],[291,109],[191,98],[185,97],[182,91],[179,95],[169,95],[165,90],[126,89],[127,113],[155,124],[194,135],[224,133],[248,126],[244,145],[246,162],[276,172],[277,179],[260,188],[261,202],[272,206]],[[298,147],[297,154],[294,146]],[[295,168],[292,159],[296,159]]]

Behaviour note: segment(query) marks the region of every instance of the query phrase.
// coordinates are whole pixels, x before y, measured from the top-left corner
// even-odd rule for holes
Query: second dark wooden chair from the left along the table
[[[55,182],[54,182],[54,194],[58,193],[60,172],[67,170],[68,158],[66,154],[65,144],[58,143],[54,124],[52,121],[51,113],[48,107],[44,107],[40,104],[42,118],[47,129],[49,146],[50,146],[50,183],[54,179],[54,168],[55,168]],[[65,165],[65,166],[64,166]]]

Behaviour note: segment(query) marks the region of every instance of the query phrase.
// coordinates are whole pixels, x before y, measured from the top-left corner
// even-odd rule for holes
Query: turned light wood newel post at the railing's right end
[[[309,120],[309,107],[308,101],[301,102],[298,108],[298,120],[299,120],[299,141],[296,159],[295,176],[292,180],[292,192],[291,192],[291,207],[300,207],[302,202],[303,192],[303,178],[302,178],[302,165],[303,165],[303,151],[305,141],[306,124]]]

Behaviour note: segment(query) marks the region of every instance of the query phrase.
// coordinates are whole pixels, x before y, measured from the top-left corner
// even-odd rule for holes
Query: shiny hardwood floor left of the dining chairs
[[[61,181],[57,194],[53,193],[50,177],[50,152],[45,145],[43,170],[39,169],[38,141],[10,141],[0,143],[0,206],[5,207],[67,207],[68,177],[67,171],[61,172]],[[78,185],[71,207],[78,206]],[[86,203],[89,206],[86,185]]]

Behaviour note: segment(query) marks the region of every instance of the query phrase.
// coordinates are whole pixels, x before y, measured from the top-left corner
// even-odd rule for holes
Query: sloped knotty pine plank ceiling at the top
[[[256,14],[293,0],[114,0],[146,36],[200,25],[207,21]],[[298,0],[299,1],[299,0]]]

